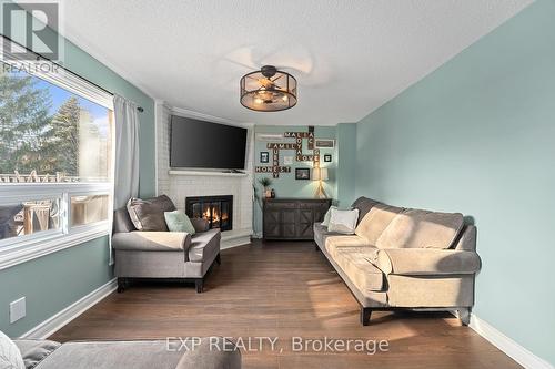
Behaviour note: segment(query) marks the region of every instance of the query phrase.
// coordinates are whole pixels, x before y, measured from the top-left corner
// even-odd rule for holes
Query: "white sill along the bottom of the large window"
[[[40,237],[13,247],[6,247],[6,249],[0,249],[0,270],[107,236],[110,234],[108,222],[102,222],[77,228],[74,233],[56,234],[48,238]]]

